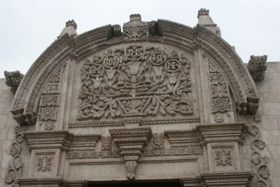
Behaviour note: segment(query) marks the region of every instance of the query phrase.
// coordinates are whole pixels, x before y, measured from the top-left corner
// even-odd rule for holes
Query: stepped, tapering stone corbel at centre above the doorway
[[[141,151],[152,137],[151,128],[109,130],[126,161],[127,178],[134,179]]]

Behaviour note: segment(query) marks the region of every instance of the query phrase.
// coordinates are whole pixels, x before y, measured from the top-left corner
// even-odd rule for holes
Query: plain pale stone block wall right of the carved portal
[[[258,113],[262,140],[266,143],[272,186],[280,183],[280,62],[267,62],[265,79],[255,83],[260,97]]]

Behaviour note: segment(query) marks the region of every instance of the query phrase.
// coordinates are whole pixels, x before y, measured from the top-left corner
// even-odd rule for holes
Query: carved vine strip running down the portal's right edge
[[[255,186],[272,186],[271,179],[269,177],[269,169],[267,167],[268,158],[265,154],[265,141],[260,139],[261,133],[256,125],[253,125],[253,120],[256,122],[260,122],[260,116],[247,116],[248,125],[249,126],[249,134],[253,136],[251,141],[251,162],[252,169],[255,173],[255,177],[257,178],[257,183]]]

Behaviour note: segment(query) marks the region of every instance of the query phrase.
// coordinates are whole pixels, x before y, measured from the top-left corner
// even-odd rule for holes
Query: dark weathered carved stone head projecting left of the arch
[[[23,74],[20,74],[20,71],[4,71],[4,75],[6,77],[6,85],[10,86],[10,91],[15,95],[20,81],[22,81]]]

